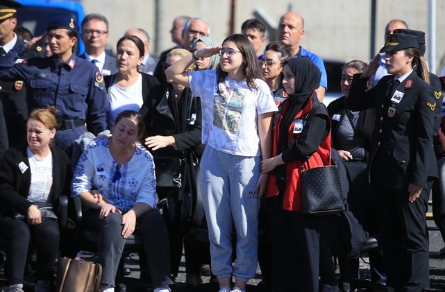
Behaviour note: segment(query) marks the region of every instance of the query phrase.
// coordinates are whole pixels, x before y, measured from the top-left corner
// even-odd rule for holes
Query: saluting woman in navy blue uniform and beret
[[[25,46],[16,46],[4,55],[0,59],[0,78],[25,81],[29,110],[57,108],[56,144],[71,154],[72,143],[83,132],[89,130],[97,135],[106,129],[106,91],[97,67],[74,54],[78,40],[75,19],[69,16],[52,19],[47,26],[47,37],[53,55],[24,61],[22,55],[44,36],[35,37]]]

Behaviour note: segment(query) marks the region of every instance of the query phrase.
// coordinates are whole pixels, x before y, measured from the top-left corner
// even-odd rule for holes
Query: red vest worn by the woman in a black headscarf
[[[312,100],[312,96],[311,96]],[[283,112],[278,118],[278,122],[274,128],[274,143],[272,148],[272,157],[277,155],[277,141],[280,135],[280,123],[283,120],[283,116],[289,108],[289,102],[286,100],[283,102]],[[312,110],[312,102],[309,102],[305,107],[294,117],[295,119],[305,119],[305,115]],[[287,141],[290,142],[293,139],[299,139],[300,133],[294,134],[295,123],[291,123],[289,126],[289,135]],[[301,132],[301,131],[300,131]],[[330,165],[329,153],[331,149],[330,144],[330,132],[326,139],[319,145],[317,151],[304,162],[305,169],[312,169],[312,167]],[[283,196],[283,209],[287,211],[299,211],[301,212],[301,162],[302,160],[294,160],[286,164],[286,179],[285,179],[285,191]],[[278,196],[278,187],[275,182],[275,175],[272,173],[269,175],[269,182],[267,184],[266,196],[273,197]]]

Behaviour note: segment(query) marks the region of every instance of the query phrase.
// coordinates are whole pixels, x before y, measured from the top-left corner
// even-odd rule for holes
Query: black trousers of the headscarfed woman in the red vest
[[[273,289],[318,292],[320,218],[284,211],[278,197],[267,200],[271,211]]]

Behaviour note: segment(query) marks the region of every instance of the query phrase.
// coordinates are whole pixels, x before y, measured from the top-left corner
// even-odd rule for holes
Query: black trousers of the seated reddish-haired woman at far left
[[[59,225],[48,219],[39,225],[28,225],[24,220],[0,219],[1,237],[6,243],[6,277],[8,285],[23,284],[30,241],[37,252],[37,280],[51,280],[59,248]]]

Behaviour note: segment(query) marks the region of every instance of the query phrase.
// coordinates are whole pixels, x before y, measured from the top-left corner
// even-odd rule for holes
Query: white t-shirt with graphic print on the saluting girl
[[[274,95],[262,80],[249,89],[246,80],[226,77],[217,84],[217,71],[189,72],[193,96],[201,97],[202,143],[224,153],[260,156],[258,114],[277,112]]]

